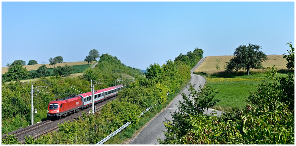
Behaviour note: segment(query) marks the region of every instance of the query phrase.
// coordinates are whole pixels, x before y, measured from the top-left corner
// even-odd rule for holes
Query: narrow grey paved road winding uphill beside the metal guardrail
[[[190,82],[191,84],[196,84],[195,89],[198,89],[199,87],[199,82],[203,86],[205,83],[205,79],[196,74],[192,74],[192,72],[203,62],[204,58],[202,58],[196,66],[194,66],[191,69],[191,79]],[[188,85],[187,85],[188,86]],[[187,89],[187,86],[183,89],[182,92],[184,92],[186,95],[189,95],[189,91]],[[140,132],[140,134],[132,139],[129,144],[157,144],[158,141],[156,138],[160,138],[162,140],[165,139],[165,135],[163,134],[163,131],[166,131],[165,126],[163,122],[165,121],[165,118],[167,120],[172,120],[172,116],[170,115],[170,112],[175,112],[176,109],[178,109],[177,104],[178,101],[182,101],[182,96],[181,94],[178,94],[176,98],[171,102],[171,104],[159,115],[157,115],[155,118],[153,118],[147,126],[143,128],[143,130]],[[212,112],[213,109],[208,109],[208,113]],[[220,111],[217,111],[218,115],[221,115]]]

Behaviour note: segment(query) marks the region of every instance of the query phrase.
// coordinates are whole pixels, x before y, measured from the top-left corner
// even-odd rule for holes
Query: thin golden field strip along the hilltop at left
[[[94,63],[95,61],[93,61],[92,63]],[[85,61],[78,61],[78,62],[65,62],[65,63],[57,63],[55,66],[65,66],[66,64],[70,65],[70,66],[76,66],[76,65],[85,65],[87,64],[87,62]],[[34,65],[25,65],[23,66],[24,68],[26,67],[27,70],[37,70],[38,67],[40,67],[42,64],[34,64]],[[53,65],[49,65],[49,64],[45,64],[46,67],[49,68],[54,68]],[[8,67],[2,67],[2,73],[1,74],[5,74],[5,72],[7,72]]]

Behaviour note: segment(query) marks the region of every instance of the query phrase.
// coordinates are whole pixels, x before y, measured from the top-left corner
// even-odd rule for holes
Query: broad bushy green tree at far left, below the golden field
[[[15,81],[15,80],[25,80],[29,78],[29,71],[23,68],[19,64],[8,67],[7,72],[2,75],[2,80],[5,82]]]

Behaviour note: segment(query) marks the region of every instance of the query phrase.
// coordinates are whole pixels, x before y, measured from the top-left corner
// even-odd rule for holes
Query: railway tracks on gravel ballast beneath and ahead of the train
[[[107,103],[107,101],[112,100],[112,99],[115,99],[115,98],[117,98],[117,96],[115,96],[113,98],[110,98],[110,99],[106,100],[105,102]],[[104,101],[98,103],[99,104],[99,107],[96,108],[95,111],[96,112],[100,112],[100,110],[103,108],[103,106],[106,103],[104,103]],[[86,112],[86,110],[88,110],[88,109],[84,109],[82,111]],[[42,136],[43,134],[47,134],[47,133],[50,133],[52,131],[58,131],[59,130],[59,127],[57,126],[58,125],[57,123],[60,123],[61,124],[61,123],[63,123],[64,120],[65,121],[68,121],[69,120],[70,122],[73,122],[74,120],[76,120],[76,118],[78,116],[82,116],[82,112],[71,114],[71,115],[72,116],[67,116],[67,117],[61,118],[59,120],[47,120],[47,121],[44,121],[42,123],[35,124],[34,126],[29,126],[29,127],[26,127],[26,128],[24,128],[22,130],[19,130],[19,131],[17,130],[17,131],[11,132],[11,133],[9,133],[9,135],[10,134],[15,134],[15,137],[19,137],[18,141],[20,141],[22,144],[24,144],[25,143],[25,140],[24,140],[24,136],[25,135],[31,135],[32,137],[34,137],[34,139],[37,139],[40,136]],[[74,115],[75,115],[75,118],[73,118]],[[44,128],[44,127],[53,127],[53,128],[51,128],[51,130],[45,130],[43,132],[42,131],[42,128]],[[40,131],[42,131],[42,132],[40,132]],[[4,137],[7,137],[7,134],[2,135],[2,138],[4,138]]]

